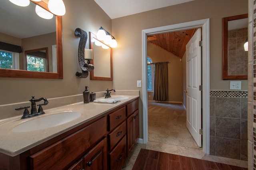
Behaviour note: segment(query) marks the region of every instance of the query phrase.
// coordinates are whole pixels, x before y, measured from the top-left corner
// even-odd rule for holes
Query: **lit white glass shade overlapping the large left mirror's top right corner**
[[[57,16],[63,16],[66,13],[66,8],[62,0],[49,0],[48,8],[50,12]]]

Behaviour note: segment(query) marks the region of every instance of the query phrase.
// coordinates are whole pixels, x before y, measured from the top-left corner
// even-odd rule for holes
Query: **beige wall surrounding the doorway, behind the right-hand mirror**
[[[229,90],[230,81],[221,78],[222,18],[247,12],[245,0],[195,0],[112,20],[112,32],[118,40],[113,50],[114,87],[138,89],[136,80],[142,80],[143,29],[210,18],[210,89]],[[139,90],[142,92],[142,88]],[[242,90],[247,90],[247,80],[242,80]]]

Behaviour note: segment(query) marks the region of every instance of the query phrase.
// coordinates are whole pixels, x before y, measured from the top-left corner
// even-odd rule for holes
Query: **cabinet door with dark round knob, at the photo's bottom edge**
[[[107,140],[100,141],[93,149],[84,156],[85,170],[107,169]]]

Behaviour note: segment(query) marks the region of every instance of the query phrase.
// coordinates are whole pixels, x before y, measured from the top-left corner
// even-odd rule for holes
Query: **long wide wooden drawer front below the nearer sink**
[[[31,169],[65,169],[106,135],[106,117],[30,156]]]

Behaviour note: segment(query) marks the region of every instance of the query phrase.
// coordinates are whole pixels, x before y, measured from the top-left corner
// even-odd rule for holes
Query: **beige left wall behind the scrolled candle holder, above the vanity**
[[[66,14],[62,17],[63,80],[0,77],[0,105],[26,102],[32,95],[36,98],[55,98],[82,94],[84,86],[89,86],[90,92],[112,88],[112,81],[91,81],[90,75],[88,78],[76,78],[75,73],[81,71],[77,57],[80,37],[74,36],[76,28],[87,33],[97,33],[100,26],[111,33],[111,19],[94,0],[64,0],[64,4]],[[88,40],[86,48],[89,48]]]

